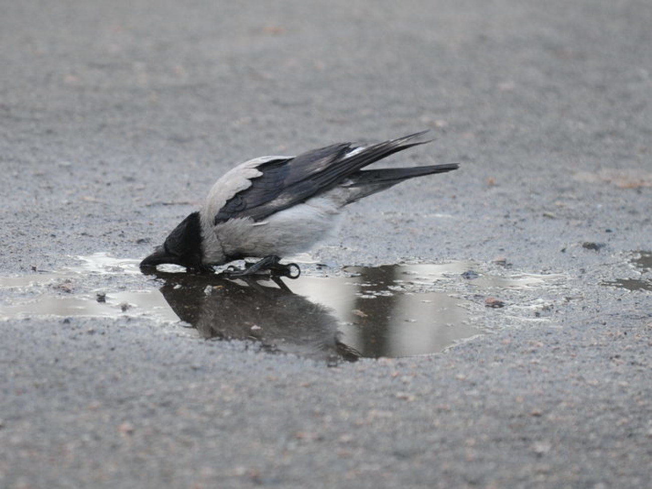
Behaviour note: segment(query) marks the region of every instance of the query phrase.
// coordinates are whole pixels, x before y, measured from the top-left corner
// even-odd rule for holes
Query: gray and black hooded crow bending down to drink
[[[280,270],[279,257],[305,252],[328,237],[345,205],[413,177],[458,168],[439,164],[362,170],[429,142],[419,141],[423,134],[244,162],[216,181],[200,211],[188,215],[140,266],[174,263],[205,272],[236,259],[262,258],[241,274]]]

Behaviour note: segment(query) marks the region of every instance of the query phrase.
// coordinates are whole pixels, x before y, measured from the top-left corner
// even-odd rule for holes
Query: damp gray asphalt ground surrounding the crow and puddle
[[[503,256],[572,295],[338,368],[146,319],[1,321],[0,486],[648,487],[652,299],[602,282],[652,249],[650,25],[645,0],[5,3],[3,276],[141,258],[245,158],[430,128],[405,162],[462,168],[356,204],[314,256]]]

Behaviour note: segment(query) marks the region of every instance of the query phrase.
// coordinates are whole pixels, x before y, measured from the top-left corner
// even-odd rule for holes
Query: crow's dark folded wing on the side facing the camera
[[[251,217],[256,221],[302,203],[321,192],[326,192],[349,175],[397,151],[427,143],[411,142],[424,132],[404,138],[385,141],[364,149],[352,143],[339,143],[307,151],[294,158],[271,160],[258,166],[259,177],[252,185],[237,192],[218,211],[215,224],[235,217]]]

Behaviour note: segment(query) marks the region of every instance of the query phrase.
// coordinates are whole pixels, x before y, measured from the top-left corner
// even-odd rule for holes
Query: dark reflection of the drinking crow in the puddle
[[[163,297],[203,338],[255,340],[266,351],[327,361],[356,361],[359,353],[339,340],[338,319],[326,306],[274,282],[226,280],[157,272]]]

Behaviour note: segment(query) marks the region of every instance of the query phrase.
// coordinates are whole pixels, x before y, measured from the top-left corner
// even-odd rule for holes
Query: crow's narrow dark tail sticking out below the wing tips
[[[402,181],[433,175],[434,173],[446,173],[457,170],[456,163],[445,163],[441,165],[416,166],[413,168],[383,168],[381,170],[359,170],[353,173],[342,186],[349,188],[349,196],[346,203],[355,202],[381,190],[401,183]]]

